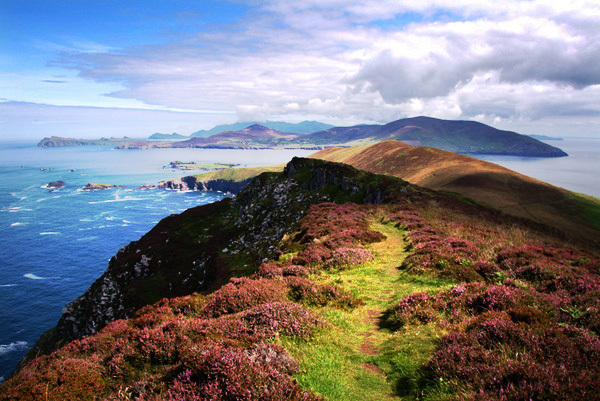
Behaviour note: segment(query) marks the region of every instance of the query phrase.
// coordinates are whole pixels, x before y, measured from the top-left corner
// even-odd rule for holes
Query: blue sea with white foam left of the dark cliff
[[[189,172],[171,161],[279,164],[302,150],[37,148],[0,142],[0,381],[119,248],[162,218],[222,199],[218,192],[138,190]],[[74,170],[74,171],[71,171]],[[62,188],[48,189],[63,180]],[[87,183],[125,185],[81,191]]]

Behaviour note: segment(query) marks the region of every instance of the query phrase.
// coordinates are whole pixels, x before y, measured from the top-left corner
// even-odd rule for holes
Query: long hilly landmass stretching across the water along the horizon
[[[217,149],[324,149],[331,146],[368,145],[398,140],[413,146],[429,146],[467,154],[524,157],[562,157],[567,153],[531,136],[502,131],[475,121],[440,120],[431,117],[405,118],[385,125],[333,127],[312,134],[295,134],[253,124],[237,131],[222,131],[206,138],[181,141],[140,141],[110,139],[86,141],[72,138],[44,138],[38,146],[115,144],[116,149],[217,148]]]

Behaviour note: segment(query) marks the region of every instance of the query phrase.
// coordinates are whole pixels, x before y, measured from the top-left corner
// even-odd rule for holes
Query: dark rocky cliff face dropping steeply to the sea
[[[63,309],[57,326],[23,362],[164,297],[210,291],[247,273],[247,266],[275,257],[276,244],[311,204],[336,199],[379,203],[389,188],[421,191],[394,178],[373,185],[368,175],[350,166],[294,158],[283,173],[253,179],[235,199],[167,217],[119,250],[106,272]]]

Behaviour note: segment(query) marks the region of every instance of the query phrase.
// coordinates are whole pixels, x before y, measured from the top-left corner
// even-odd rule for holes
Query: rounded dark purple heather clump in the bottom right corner
[[[600,397],[597,337],[558,326],[535,335],[526,327],[491,314],[444,337],[426,370],[432,380],[459,380],[471,399]]]

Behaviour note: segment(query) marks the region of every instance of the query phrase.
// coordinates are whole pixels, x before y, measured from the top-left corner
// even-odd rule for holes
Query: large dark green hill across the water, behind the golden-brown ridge
[[[396,139],[458,153],[527,157],[567,156],[562,150],[516,132],[501,131],[476,121],[405,118],[385,125],[331,128],[299,140],[316,144],[360,144]]]

